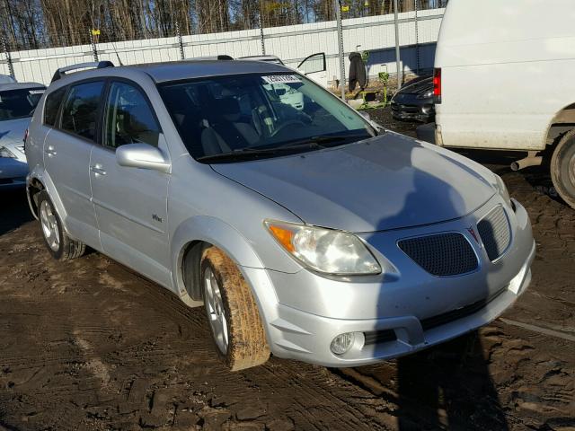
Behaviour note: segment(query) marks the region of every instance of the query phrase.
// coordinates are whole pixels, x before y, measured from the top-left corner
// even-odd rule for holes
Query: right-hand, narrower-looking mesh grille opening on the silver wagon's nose
[[[483,217],[482,221],[477,224],[477,230],[482,237],[483,246],[487,251],[487,256],[491,260],[500,258],[500,256],[509,247],[511,242],[511,232],[509,230],[509,221],[505,215],[503,207],[498,206]]]

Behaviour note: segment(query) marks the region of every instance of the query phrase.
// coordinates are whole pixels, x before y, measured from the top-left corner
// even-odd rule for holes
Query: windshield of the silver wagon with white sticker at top
[[[313,151],[375,134],[345,103],[296,74],[202,78],[164,84],[160,92],[182,141],[202,162]]]

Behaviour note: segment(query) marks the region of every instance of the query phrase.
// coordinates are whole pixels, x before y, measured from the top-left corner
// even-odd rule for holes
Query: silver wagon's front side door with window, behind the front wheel
[[[136,84],[112,81],[102,123],[102,145],[93,149],[90,176],[103,251],[170,287],[167,235],[170,175],[119,166],[115,154],[120,145],[159,145],[160,127],[154,110]],[[160,149],[168,153],[167,148]]]

